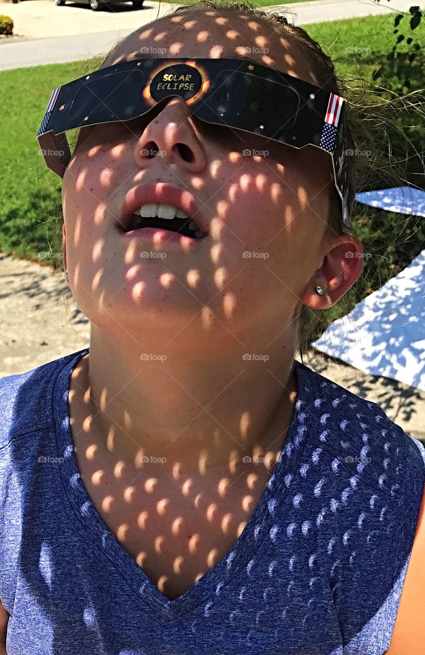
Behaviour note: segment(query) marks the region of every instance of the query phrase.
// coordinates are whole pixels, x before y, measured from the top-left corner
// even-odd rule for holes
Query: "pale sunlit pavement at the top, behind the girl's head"
[[[285,12],[298,25],[354,18],[369,14],[408,11],[411,5],[425,8],[422,0],[310,0],[295,5],[276,5],[269,10]],[[134,10],[130,3],[93,12],[89,5],[67,3],[56,7],[52,0],[2,4],[1,12],[14,20],[16,37],[0,40],[0,70],[85,60],[106,54],[115,41],[172,8],[146,0]]]

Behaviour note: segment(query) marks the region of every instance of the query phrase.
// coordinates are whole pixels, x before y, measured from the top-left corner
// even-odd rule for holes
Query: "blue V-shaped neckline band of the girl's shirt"
[[[68,391],[75,365],[88,352],[89,348],[84,348],[71,354],[52,384],[52,416],[58,455],[63,458],[59,466],[63,489],[88,538],[91,538],[104,557],[107,557],[111,565],[121,573],[138,598],[146,602],[157,616],[166,622],[171,622],[182,618],[200,603],[206,602],[211,595],[219,593],[219,590],[228,585],[232,578],[249,564],[260,544],[266,538],[272,538],[275,529],[279,529],[278,514],[282,512],[287,502],[289,491],[285,480],[287,476],[294,474],[310,432],[312,413],[303,409],[308,409],[306,401],[310,393],[312,371],[294,360],[297,398],[292,421],[272,476],[245,529],[232,548],[212,569],[209,569],[183,595],[170,600],[157,589],[104,523],[92,504],[79,474],[71,438]]]

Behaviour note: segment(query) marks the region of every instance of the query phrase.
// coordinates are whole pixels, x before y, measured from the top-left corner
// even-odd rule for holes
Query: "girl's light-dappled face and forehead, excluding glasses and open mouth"
[[[236,12],[157,20],[104,66],[129,56],[245,56],[317,84],[290,37]],[[204,124],[180,98],[150,120],[83,131],[62,200],[70,286],[89,320],[127,339],[149,325],[174,343],[199,340],[200,330],[220,334],[209,347],[234,344],[249,326],[269,323],[280,333],[334,236],[326,230],[331,157]],[[169,241],[175,233],[167,232],[153,244],[152,236],[120,231],[126,196],[145,185],[176,192],[207,236]]]

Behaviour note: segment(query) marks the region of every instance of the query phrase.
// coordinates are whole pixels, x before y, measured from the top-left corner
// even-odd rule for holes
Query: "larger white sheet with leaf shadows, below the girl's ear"
[[[425,391],[425,250],[312,346],[365,373]]]

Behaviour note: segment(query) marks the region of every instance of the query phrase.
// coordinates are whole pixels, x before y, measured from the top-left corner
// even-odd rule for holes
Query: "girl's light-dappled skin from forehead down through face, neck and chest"
[[[104,66],[141,48],[246,58],[250,44],[250,60],[312,82],[277,29],[193,15],[134,32]],[[331,167],[317,148],[203,124],[174,98],[151,118],[92,126],[66,170],[66,267],[92,326],[68,396],[75,457],[96,511],[168,599],[226,557],[279,459],[296,400],[294,309],[323,259]],[[171,188],[206,236],[125,233],[138,187],[160,203]],[[268,360],[244,359],[264,344]],[[209,358],[222,370],[193,373]]]

